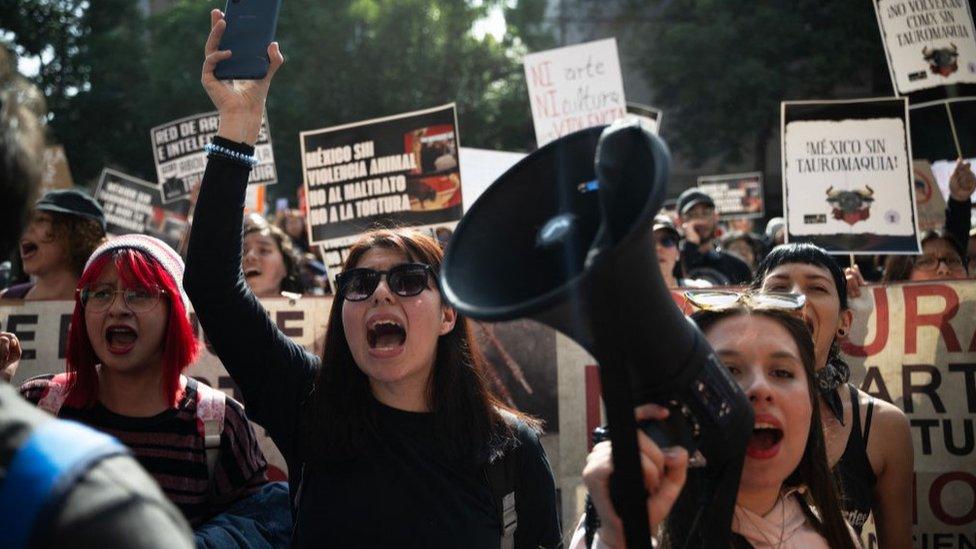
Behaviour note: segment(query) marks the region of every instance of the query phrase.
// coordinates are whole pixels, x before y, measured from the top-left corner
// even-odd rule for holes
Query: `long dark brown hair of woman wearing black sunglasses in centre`
[[[374,248],[399,251],[409,261],[426,263],[435,273],[440,271],[443,252],[437,241],[408,229],[367,233],[349,250],[343,268],[354,268]],[[322,367],[308,403],[311,413],[305,438],[315,461],[355,457],[367,438],[377,432],[369,378],[356,365],[346,341],[343,302],[341,296],[332,302]],[[451,457],[478,464],[518,444],[513,420],[540,428],[538,420],[508,408],[489,391],[484,369],[484,358],[468,321],[458,316],[454,329],[437,340],[427,402],[435,436],[443,440]]]

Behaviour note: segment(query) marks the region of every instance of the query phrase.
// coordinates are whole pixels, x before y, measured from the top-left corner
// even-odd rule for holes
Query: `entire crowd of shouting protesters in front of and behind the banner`
[[[401,229],[353,245],[320,356],[268,317],[259,299],[330,290],[300,212],[283,210],[273,222],[241,215],[251,167],[242,159],[253,157],[284,57],[273,43],[264,79],[216,79],[214,67],[232,55],[217,49],[225,27],[214,10],[202,82],[220,126],[185,264],[153,237],[107,236],[102,209],[83,192],[38,198],[43,115],[21,104],[14,84],[0,86],[0,257],[13,251],[21,275],[4,282],[0,297],[74,302],[64,370],[27,380],[20,396],[0,381],[0,465],[16,471],[11,456],[46,425],[73,425],[52,417],[91,428],[77,436],[121,442],[62,483],[38,515],[46,522],[29,523],[24,539],[94,546],[119,544],[125,532],[133,547],[561,546],[543,425],[489,389],[468,321],[438,290],[441,242]],[[922,236],[921,254],[861,256],[847,269],[812,244],[784,244],[782,218],[763,234],[750,220],[723,225],[698,189],[655,216],[669,287],[748,286],[792,300],[771,308],[737,301],[692,316],[757,417],[736,500],[736,546],[854,547],[871,514],[881,546],[911,545],[908,421],[850,382],[839,341],[852,324],[849,299],[868,282],[976,278],[974,190],[976,175],[960,160],[945,227]],[[191,303],[243,403],[185,375],[198,349]],[[7,382],[21,354],[18,338],[0,332]],[[635,413],[668,414],[655,405]],[[269,482],[249,418],[284,456],[287,487]],[[639,437],[648,518],[667,538],[689,457]],[[593,543],[602,547],[623,542],[611,472],[610,444],[598,444],[582,475],[601,515]],[[584,523],[574,547],[585,544]]]

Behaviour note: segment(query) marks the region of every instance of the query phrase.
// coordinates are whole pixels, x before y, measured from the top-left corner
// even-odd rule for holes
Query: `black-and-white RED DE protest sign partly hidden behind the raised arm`
[[[156,177],[163,189],[165,202],[188,198],[200,184],[207,167],[207,152],[204,147],[217,135],[219,123],[220,116],[216,112],[207,112],[173,120],[149,130]],[[278,174],[275,170],[267,115],[261,121],[258,140],[254,144],[254,156],[257,157],[258,164],[251,170],[248,183],[277,183]]]

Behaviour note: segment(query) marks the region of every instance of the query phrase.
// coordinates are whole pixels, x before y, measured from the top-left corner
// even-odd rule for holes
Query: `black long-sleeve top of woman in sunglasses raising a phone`
[[[253,149],[216,138],[246,154]],[[211,156],[201,183],[184,287],[207,337],[241,389],[248,416],[274,440],[295,479],[303,470],[303,403],[319,358],[268,318],[241,271],[248,169]],[[500,543],[485,470],[447,457],[431,414],[373,401],[377,434],[347,462],[304,467],[296,547],[484,547]],[[552,471],[538,434],[520,425],[516,547],[561,543]],[[292,499],[296,485],[292,482]]]

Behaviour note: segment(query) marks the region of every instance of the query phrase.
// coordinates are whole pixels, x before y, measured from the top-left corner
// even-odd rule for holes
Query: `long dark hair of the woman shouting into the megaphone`
[[[840,508],[840,489],[836,477],[827,465],[827,444],[823,436],[820,418],[820,398],[815,384],[815,351],[810,330],[802,320],[776,310],[750,310],[744,308],[725,311],[701,311],[691,316],[692,320],[705,333],[719,322],[741,315],[755,315],[768,318],[782,326],[793,341],[800,354],[803,370],[807,378],[807,395],[810,398],[810,428],[803,457],[789,476],[783,481],[784,488],[806,487],[806,495],[801,498],[801,508],[807,521],[833,548],[854,549],[847,523]],[[810,510],[813,507],[817,513]],[[819,515],[819,516],[818,516]]]

